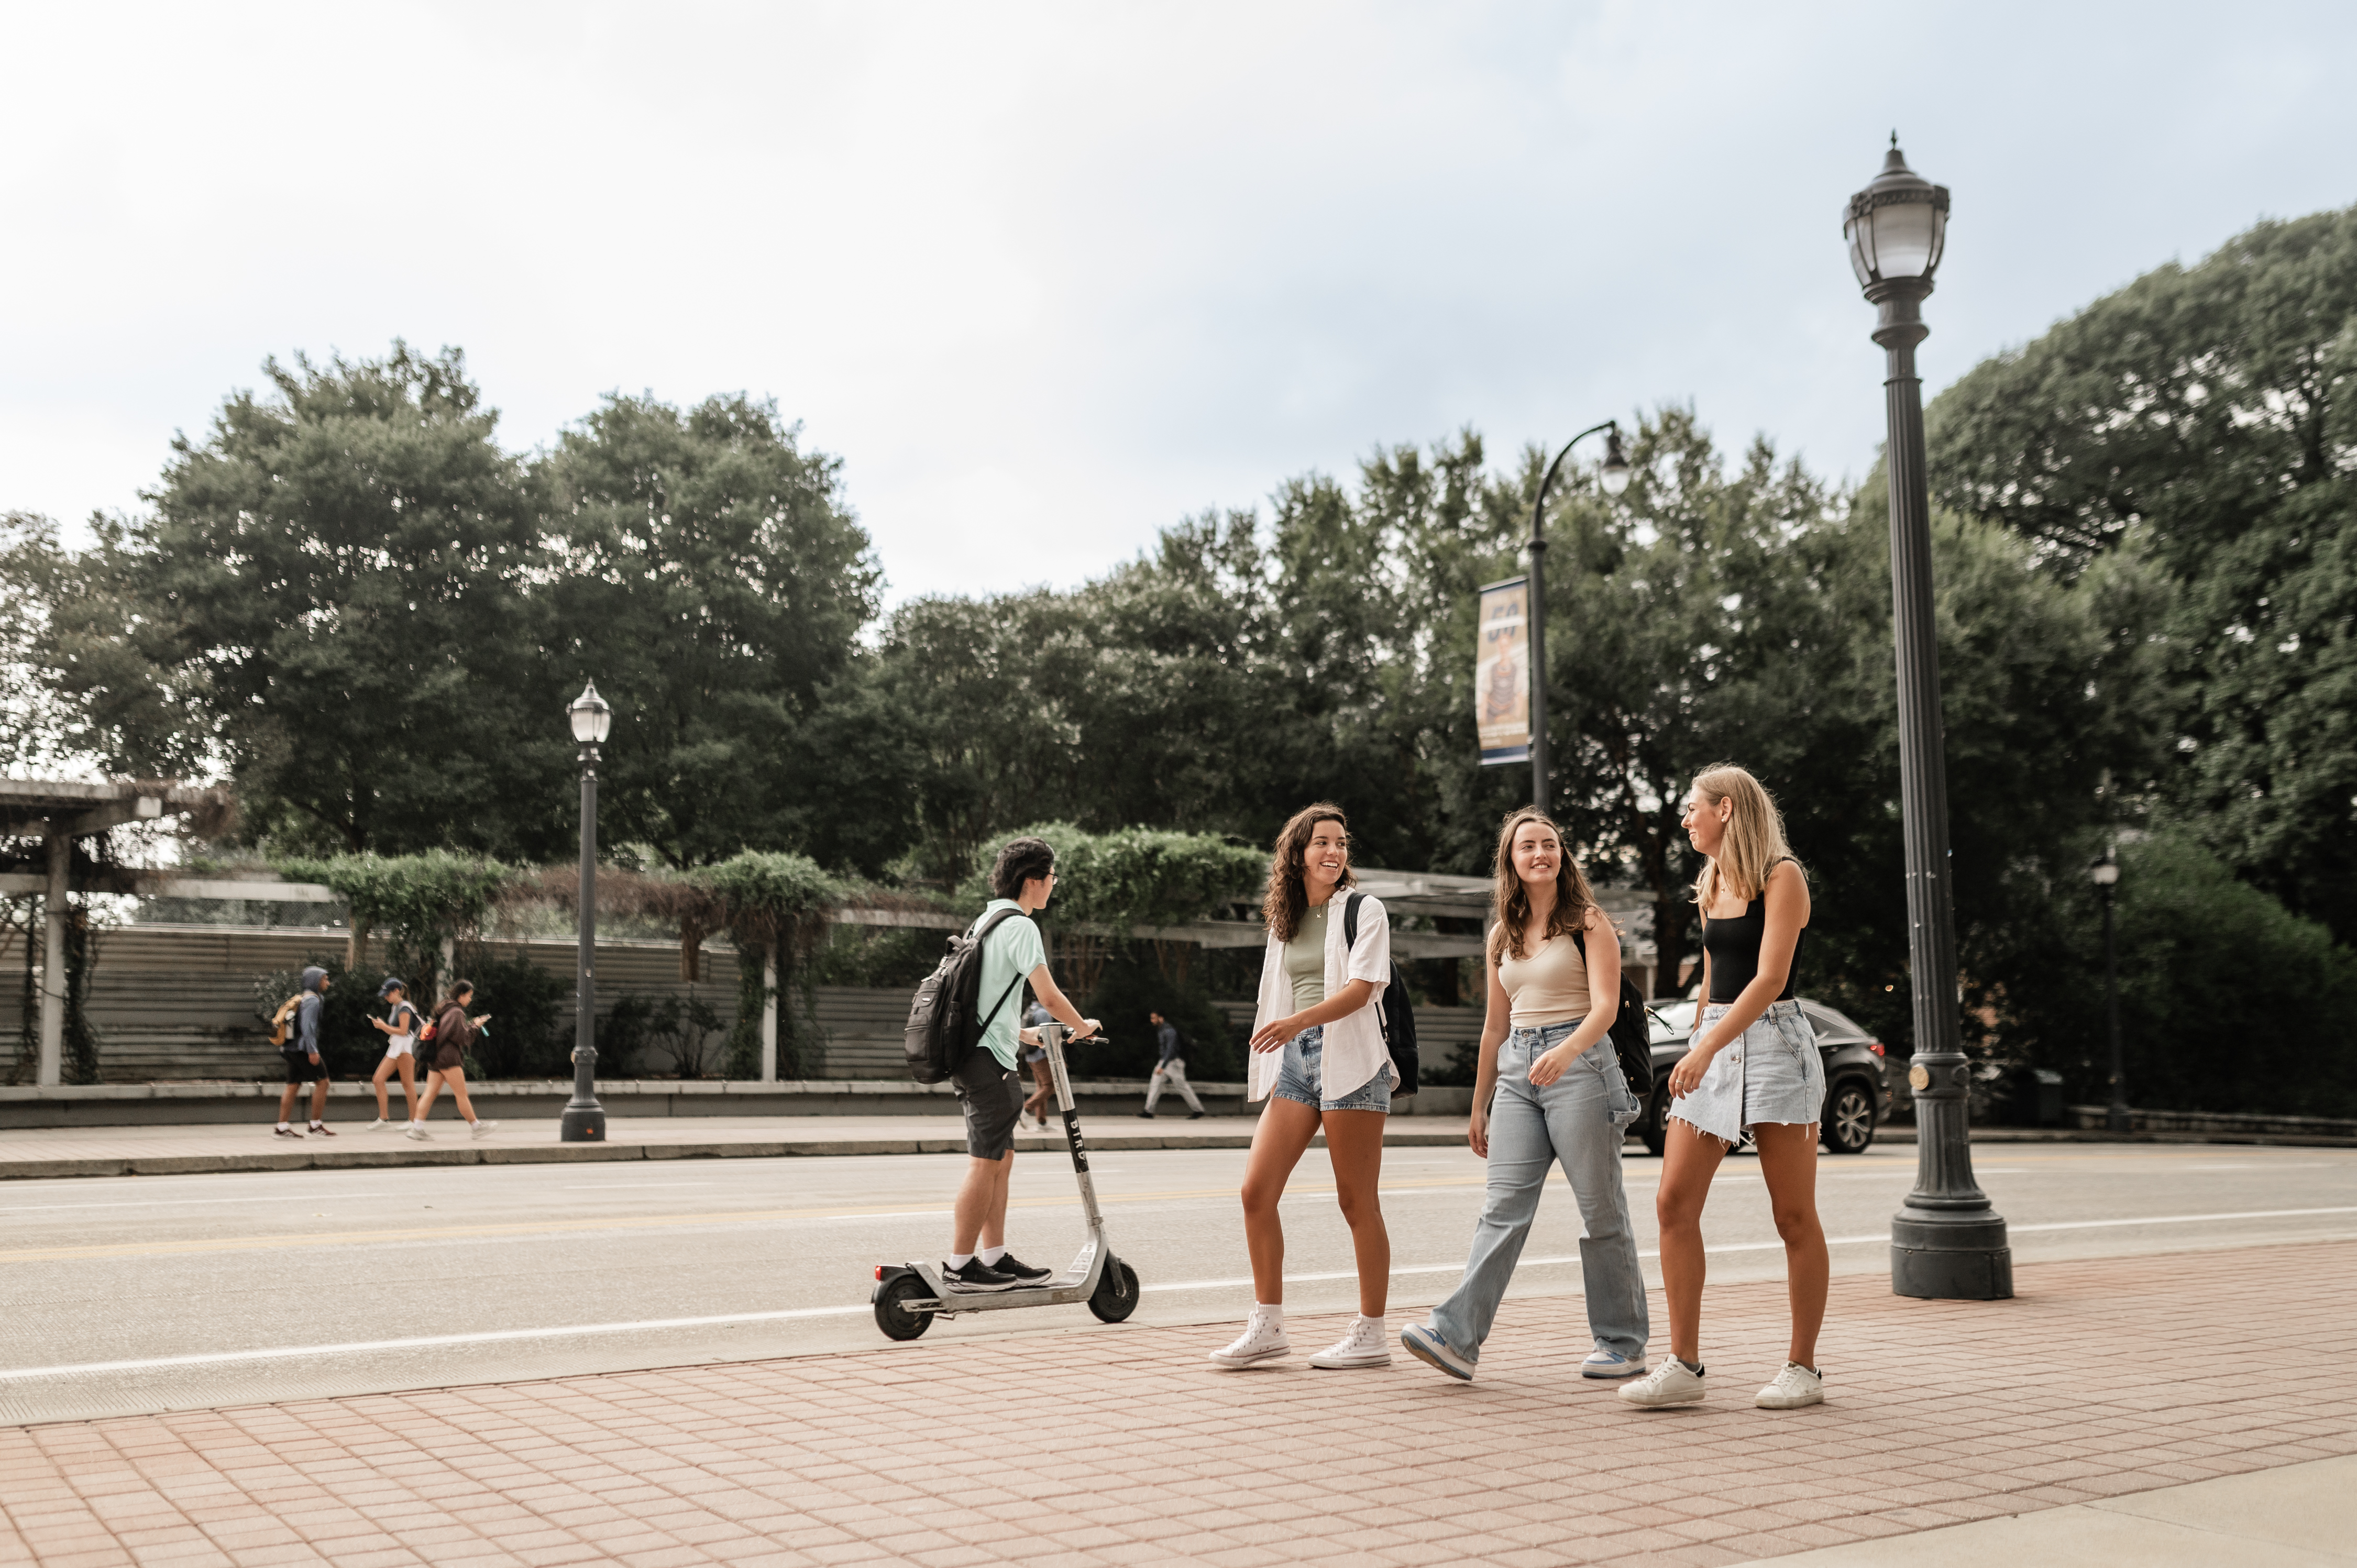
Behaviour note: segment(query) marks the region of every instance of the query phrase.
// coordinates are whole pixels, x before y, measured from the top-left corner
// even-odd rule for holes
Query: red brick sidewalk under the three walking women
[[[2020,1266],[2008,1304],[1836,1278],[1834,1403],[1763,1412],[1780,1285],[1709,1302],[1714,1403],[1567,1375],[1216,1372],[1087,1327],[0,1431],[0,1561],[1735,1563],[2357,1452],[2357,1243]],[[1659,1297],[1655,1299],[1659,1323]],[[1395,1320],[1398,1323],[1398,1320]]]

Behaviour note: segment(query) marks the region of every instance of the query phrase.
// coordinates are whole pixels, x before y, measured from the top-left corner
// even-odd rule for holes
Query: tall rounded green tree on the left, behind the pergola
[[[113,769],[217,755],[247,832],[288,849],[554,851],[533,507],[464,358],[264,373],[174,439],[153,514],[101,526],[52,611],[61,691]]]

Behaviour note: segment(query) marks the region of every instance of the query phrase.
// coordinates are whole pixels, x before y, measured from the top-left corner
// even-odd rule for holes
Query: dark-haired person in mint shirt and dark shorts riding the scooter
[[[1054,1276],[1006,1250],[1006,1186],[1016,1170],[1023,1106],[1016,1087],[1023,981],[1075,1040],[1098,1030],[1096,1019],[1082,1019],[1047,971],[1047,943],[1032,922],[1056,891],[1056,849],[1047,839],[1009,839],[990,865],[990,891],[995,896],[973,922],[983,943],[976,993],[981,1042],[950,1073],[966,1115],[966,1177],[950,1210],[950,1257],[943,1264],[950,1290],[1016,1290]]]

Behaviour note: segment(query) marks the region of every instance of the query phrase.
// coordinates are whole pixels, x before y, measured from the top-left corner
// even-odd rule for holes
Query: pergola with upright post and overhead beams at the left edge
[[[40,1059],[35,1082],[57,1085],[64,1078],[68,894],[238,896],[214,891],[217,884],[212,882],[137,870],[90,875],[75,887],[75,839],[101,837],[125,823],[153,823],[184,811],[217,809],[222,809],[222,797],[214,790],[181,785],[170,778],[134,783],[0,778],[0,837],[40,839],[47,851],[47,870],[42,872],[0,872],[0,894],[16,898],[38,896],[42,901]],[[87,858],[97,861],[97,856]]]

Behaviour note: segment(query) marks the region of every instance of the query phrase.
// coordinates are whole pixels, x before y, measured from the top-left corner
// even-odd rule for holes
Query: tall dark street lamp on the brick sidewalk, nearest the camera
[[[1876,307],[1888,358],[1890,620],[1900,689],[1900,806],[1907,844],[1907,964],[1916,1052],[1916,1184],[1890,1221],[1890,1290],[1902,1297],[1999,1302],[2013,1294],[2006,1221],[1973,1181],[1970,1063],[1956,988],[1956,896],[1949,887],[1947,757],[1940,719],[1940,634],[1930,604],[1930,483],[1923,467],[1923,382],[1914,347],[1921,304],[1947,245],[1947,186],[1907,167],[1890,132],[1883,172],[1850,198],[1841,224],[1850,266]]]

